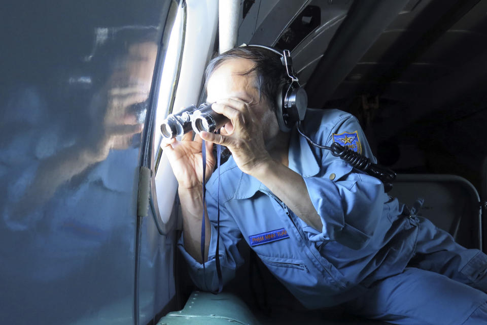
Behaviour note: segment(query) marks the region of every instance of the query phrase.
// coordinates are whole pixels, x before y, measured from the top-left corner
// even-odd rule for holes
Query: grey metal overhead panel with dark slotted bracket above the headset
[[[294,69],[301,84],[305,84],[353,3],[242,1],[237,44],[274,45],[291,50]]]

